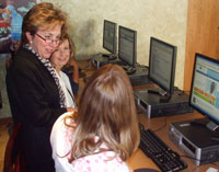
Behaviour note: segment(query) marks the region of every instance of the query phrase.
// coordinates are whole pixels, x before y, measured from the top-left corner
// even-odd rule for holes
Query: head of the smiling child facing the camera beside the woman
[[[50,62],[55,68],[61,69],[70,61],[70,58],[73,55],[73,42],[68,35],[65,35],[57,49],[51,54]]]

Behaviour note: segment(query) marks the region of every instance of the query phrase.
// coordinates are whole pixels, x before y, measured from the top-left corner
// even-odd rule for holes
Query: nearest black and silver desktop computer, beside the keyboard
[[[200,118],[201,124],[208,119]],[[219,160],[219,139],[212,140],[212,131],[205,125],[194,125],[194,121],[171,123],[170,139],[196,164],[211,163]],[[199,122],[200,123],[200,122]]]

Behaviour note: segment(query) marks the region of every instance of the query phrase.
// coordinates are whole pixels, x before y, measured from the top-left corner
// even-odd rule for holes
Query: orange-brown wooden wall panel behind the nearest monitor
[[[188,0],[184,90],[191,89],[195,53],[219,59],[219,1]]]

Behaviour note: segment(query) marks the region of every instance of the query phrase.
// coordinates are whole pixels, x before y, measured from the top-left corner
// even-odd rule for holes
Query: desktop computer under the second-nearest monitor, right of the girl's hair
[[[181,90],[175,90],[165,103],[160,102],[160,95],[148,93],[148,90],[158,90],[158,88],[134,91],[137,106],[148,118],[194,112],[188,105],[188,95]]]

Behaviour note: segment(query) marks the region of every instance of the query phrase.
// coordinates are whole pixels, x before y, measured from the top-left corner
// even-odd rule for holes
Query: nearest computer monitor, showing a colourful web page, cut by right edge
[[[209,118],[207,128],[218,128],[219,60],[195,54],[189,105]]]

